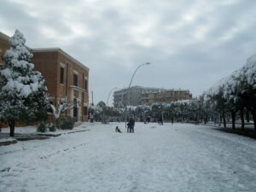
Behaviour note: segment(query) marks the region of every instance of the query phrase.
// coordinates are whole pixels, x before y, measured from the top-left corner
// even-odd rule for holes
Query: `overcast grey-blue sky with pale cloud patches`
[[[256,53],[256,1],[0,0],[0,31],[15,29],[27,46],[59,47],[89,67],[95,103],[144,62],[132,85],[199,96]]]

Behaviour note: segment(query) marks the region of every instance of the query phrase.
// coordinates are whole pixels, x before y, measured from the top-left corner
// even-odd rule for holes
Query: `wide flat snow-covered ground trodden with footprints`
[[[256,189],[253,139],[203,125],[124,126],[87,124],[90,131],[0,147],[0,191]]]

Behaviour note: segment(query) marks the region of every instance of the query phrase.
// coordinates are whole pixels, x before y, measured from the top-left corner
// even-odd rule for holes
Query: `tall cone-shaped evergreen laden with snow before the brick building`
[[[9,42],[0,70],[0,117],[8,122],[14,137],[16,122],[47,118],[48,100],[44,78],[33,71],[32,54],[23,34],[16,30]]]

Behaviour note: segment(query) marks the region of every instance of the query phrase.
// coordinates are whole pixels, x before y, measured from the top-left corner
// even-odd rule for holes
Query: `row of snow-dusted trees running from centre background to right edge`
[[[122,111],[123,118],[129,113],[140,120],[150,117],[152,121],[156,121],[162,115],[165,120],[175,119],[181,122],[218,121],[223,122],[224,127],[227,120],[231,120],[232,129],[236,129],[238,119],[241,129],[244,129],[246,122],[253,120],[256,130],[256,55],[249,57],[244,66],[220,79],[194,99],[128,106]]]

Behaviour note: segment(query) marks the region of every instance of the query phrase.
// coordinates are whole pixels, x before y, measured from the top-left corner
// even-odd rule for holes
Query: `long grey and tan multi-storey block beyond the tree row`
[[[113,106],[124,108],[126,105],[137,106],[154,102],[177,102],[185,99],[192,99],[189,90],[166,90],[134,86],[130,90],[127,88],[114,91]]]

